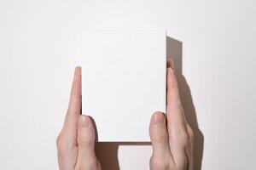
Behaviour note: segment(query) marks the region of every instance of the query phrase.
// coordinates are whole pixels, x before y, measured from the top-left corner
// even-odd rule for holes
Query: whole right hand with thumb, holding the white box
[[[184,116],[171,60],[167,61],[166,83],[166,116],[155,112],[149,125],[153,145],[150,169],[192,170],[194,134]]]

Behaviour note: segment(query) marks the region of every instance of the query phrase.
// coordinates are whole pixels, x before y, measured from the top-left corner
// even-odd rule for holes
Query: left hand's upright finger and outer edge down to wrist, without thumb
[[[65,118],[64,126],[57,138],[58,162],[60,169],[73,169],[78,157],[77,146],[77,121],[79,111],[79,94],[81,89],[81,68],[75,69],[73,77],[73,85],[70,94],[70,101]]]

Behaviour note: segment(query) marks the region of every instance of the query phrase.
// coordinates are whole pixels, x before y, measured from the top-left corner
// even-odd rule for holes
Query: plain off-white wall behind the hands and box
[[[255,169],[255,5],[0,0],[0,168],[57,169],[55,137],[67,110],[81,31],[166,29],[183,50],[179,80],[196,132],[195,168],[203,151],[201,169]],[[106,146],[99,150],[106,152]],[[113,164],[106,169],[148,169],[150,154],[150,145],[120,145],[102,163]]]

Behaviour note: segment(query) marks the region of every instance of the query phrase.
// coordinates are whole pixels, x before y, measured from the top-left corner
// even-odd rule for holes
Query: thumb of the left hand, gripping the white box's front
[[[85,160],[95,159],[95,133],[89,116],[79,116],[78,126],[79,158]]]

